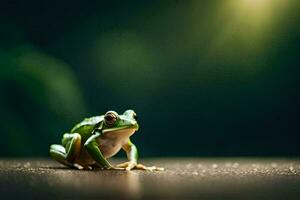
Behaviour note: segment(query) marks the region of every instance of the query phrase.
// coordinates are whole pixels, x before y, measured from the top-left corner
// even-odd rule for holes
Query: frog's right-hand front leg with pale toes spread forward
[[[126,151],[128,162],[117,165],[117,167],[125,168],[127,171],[131,169],[141,169],[149,171],[162,171],[164,168],[161,167],[146,167],[145,165],[138,164],[138,150],[136,146],[128,140],[126,144],[123,145],[123,149]]]

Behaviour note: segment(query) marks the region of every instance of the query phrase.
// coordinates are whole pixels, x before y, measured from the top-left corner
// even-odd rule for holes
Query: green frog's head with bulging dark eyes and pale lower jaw
[[[122,115],[115,111],[108,111],[104,115],[102,133],[130,136],[139,128],[136,119],[136,113],[133,110],[126,110]]]

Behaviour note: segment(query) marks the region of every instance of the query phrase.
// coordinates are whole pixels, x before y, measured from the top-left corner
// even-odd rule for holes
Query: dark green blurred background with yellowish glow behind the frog
[[[300,156],[300,1],[1,1],[0,156],[136,110],[141,156]]]

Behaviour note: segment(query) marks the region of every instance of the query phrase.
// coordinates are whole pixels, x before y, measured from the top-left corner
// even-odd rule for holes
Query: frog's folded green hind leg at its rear
[[[80,153],[81,136],[78,133],[66,133],[63,136],[62,144],[53,144],[50,146],[51,157],[68,167],[78,168],[73,164],[73,161]]]

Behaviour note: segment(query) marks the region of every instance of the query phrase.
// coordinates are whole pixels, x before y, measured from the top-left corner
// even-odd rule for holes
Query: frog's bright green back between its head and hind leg
[[[92,134],[93,130],[97,128],[102,121],[103,115],[85,118],[82,122],[76,124],[72,128],[71,133],[79,133],[82,137],[82,140],[86,141],[87,138]]]

